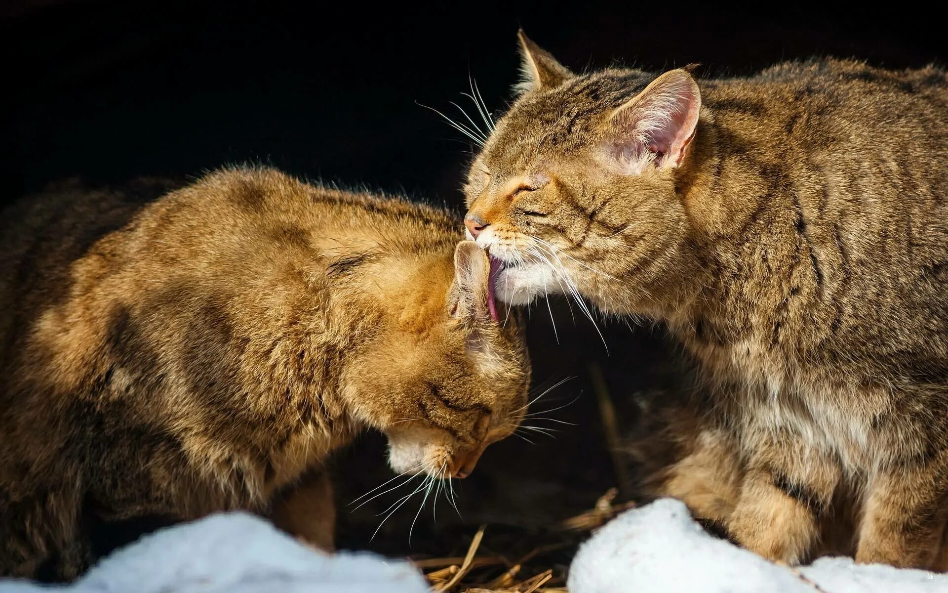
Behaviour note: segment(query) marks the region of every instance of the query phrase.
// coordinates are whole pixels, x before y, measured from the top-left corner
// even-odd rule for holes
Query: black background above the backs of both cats
[[[939,19],[896,5],[373,4],[8,0],[5,195],[258,161],[456,205],[467,147],[418,103],[469,109],[470,76],[502,111],[518,27],[574,69],[700,62],[704,76],[811,55],[917,66],[946,49]]]

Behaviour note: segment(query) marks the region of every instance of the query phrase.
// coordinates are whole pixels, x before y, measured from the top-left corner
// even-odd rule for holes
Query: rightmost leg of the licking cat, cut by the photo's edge
[[[941,564],[939,547],[948,519],[945,465],[943,459],[906,463],[871,476],[856,562],[915,568]]]

